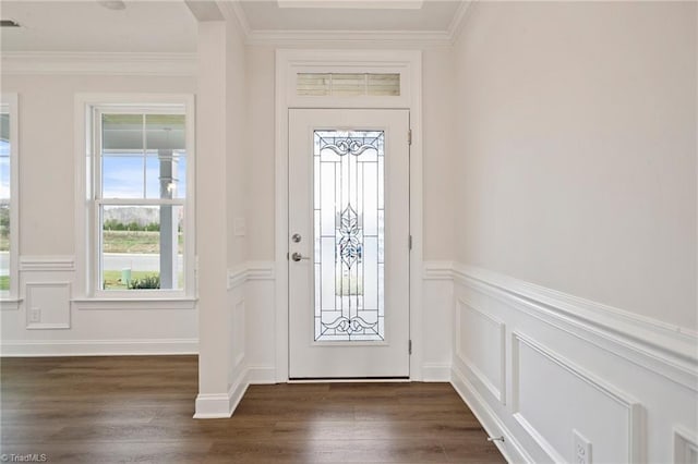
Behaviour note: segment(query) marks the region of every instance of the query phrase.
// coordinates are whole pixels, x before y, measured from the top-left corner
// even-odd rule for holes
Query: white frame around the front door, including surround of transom
[[[400,95],[308,97],[296,93],[298,73],[399,73]],[[289,381],[288,147],[289,109],[407,109],[410,145],[410,380],[422,380],[422,53],[419,50],[276,50],[275,118],[275,368]],[[407,134],[406,134],[407,136]]]

